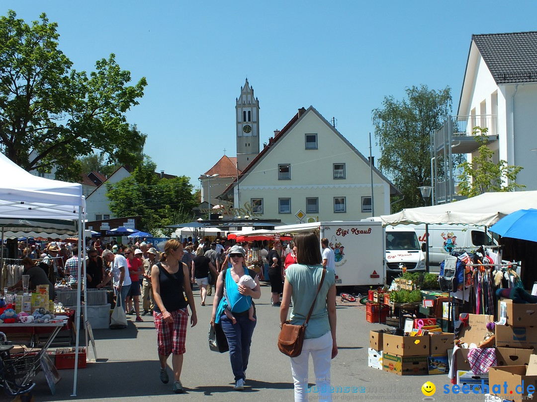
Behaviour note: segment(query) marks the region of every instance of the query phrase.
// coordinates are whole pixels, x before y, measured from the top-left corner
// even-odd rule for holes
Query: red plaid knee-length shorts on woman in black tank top
[[[169,356],[170,353],[184,354],[188,310],[185,307],[184,309],[169,312],[173,318],[172,323],[165,322],[161,312],[153,311],[157,329],[158,354],[162,356]]]

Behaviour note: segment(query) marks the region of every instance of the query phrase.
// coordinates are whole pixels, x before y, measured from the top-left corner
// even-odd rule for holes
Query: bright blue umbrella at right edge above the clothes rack
[[[537,210],[518,210],[500,219],[490,231],[503,237],[537,242]]]

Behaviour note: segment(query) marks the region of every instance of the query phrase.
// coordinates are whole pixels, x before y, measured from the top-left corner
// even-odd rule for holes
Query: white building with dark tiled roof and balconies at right
[[[449,160],[452,154],[467,154],[471,162],[479,147],[472,131],[476,126],[487,128],[493,161],[523,167],[516,182],[526,185],[525,190],[537,190],[535,110],[537,32],[472,35],[459,109],[434,133],[432,157]],[[445,181],[433,181],[436,203],[456,198],[455,172]]]

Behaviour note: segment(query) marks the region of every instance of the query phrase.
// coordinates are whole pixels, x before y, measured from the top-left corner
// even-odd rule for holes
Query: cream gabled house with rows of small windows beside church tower
[[[220,198],[248,215],[281,219],[360,220],[372,215],[371,170],[366,159],[313,107],[302,108],[242,170]],[[375,167],[374,213],[390,213],[400,192]],[[301,210],[304,216],[297,218]]]

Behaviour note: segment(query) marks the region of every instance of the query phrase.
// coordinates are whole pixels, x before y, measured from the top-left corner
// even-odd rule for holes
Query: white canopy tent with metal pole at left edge
[[[0,218],[67,219],[78,221],[82,237],[85,199],[82,184],[67,183],[34,176],[0,153]],[[81,265],[82,242],[78,243],[78,265]],[[84,262],[85,264],[85,262]],[[81,283],[81,270],[78,270]],[[81,286],[78,287],[80,289]],[[80,292],[80,291],[79,291]],[[76,327],[80,326],[80,297],[77,297]],[[76,337],[78,350],[79,337]],[[72,396],[76,396],[78,353],[75,354],[75,377]]]

